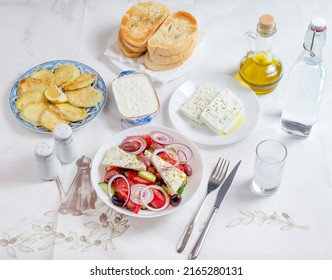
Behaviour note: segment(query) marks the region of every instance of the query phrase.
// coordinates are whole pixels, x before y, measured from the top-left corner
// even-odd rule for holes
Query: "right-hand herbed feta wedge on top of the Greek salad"
[[[154,167],[157,169],[170,191],[173,194],[177,193],[178,189],[185,184],[187,175],[159,156],[153,157],[153,154],[148,150],[144,152],[144,155],[152,160]]]

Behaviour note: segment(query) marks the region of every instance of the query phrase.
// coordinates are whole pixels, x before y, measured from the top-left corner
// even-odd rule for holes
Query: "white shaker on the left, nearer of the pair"
[[[38,175],[43,180],[53,180],[60,173],[61,163],[55,156],[53,145],[40,142],[35,146]]]

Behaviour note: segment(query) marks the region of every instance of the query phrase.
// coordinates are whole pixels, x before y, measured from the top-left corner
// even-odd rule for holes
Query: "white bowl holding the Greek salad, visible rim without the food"
[[[188,177],[187,186],[182,194],[182,202],[177,207],[168,207],[165,210],[160,212],[157,211],[150,211],[150,210],[140,210],[138,214],[135,214],[124,207],[119,207],[114,205],[109,196],[103,192],[103,190],[99,187],[98,183],[103,181],[103,177],[105,175],[105,166],[101,164],[102,160],[104,159],[107,151],[110,147],[114,147],[119,145],[122,140],[129,135],[137,135],[137,134],[147,134],[150,131],[157,130],[163,131],[173,137],[174,142],[183,143],[190,147],[193,151],[193,158],[188,162],[193,169],[193,174]],[[195,192],[198,190],[201,179],[202,179],[202,158],[197,149],[197,147],[179,132],[173,129],[169,129],[166,127],[161,126],[151,126],[151,125],[143,125],[138,127],[129,128],[120,132],[119,134],[112,136],[109,141],[107,141],[103,146],[99,148],[97,151],[91,165],[91,181],[93,187],[95,188],[98,196],[112,209],[116,210],[117,212],[126,214],[128,216],[138,217],[138,218],[153,218],[153,217],[160,217],[164,215],[168,215],[173,213],[174,211],[178,211],[183,208],[183,206],[192,198]]]

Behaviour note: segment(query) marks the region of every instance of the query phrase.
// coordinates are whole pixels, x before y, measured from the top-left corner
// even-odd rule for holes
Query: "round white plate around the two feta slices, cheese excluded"
[[[228,87],[245,106],[244,119],[241,126],[234,132],[219,136],[206,125],[200,125],[190,120],[180,111],[181,106],[194,93],[197,86],[208,83],[221,89]],[[204,73],[192,77],[178,87],[168,105],[168,113],[173,126],[193,141],[206,145],[226,145],[242,140],[254,129],[259,115],[259,104],[256,94],[248,87],[242,85],[235,78],[219,73]]]

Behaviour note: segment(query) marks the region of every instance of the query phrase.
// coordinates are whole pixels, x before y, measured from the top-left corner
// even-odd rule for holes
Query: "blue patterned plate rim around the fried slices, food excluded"
[[[10,108],[15,116],[15,118],[21,123],[23,124],[25,127],[40,132],[40,133],[52,133],[51,131],[41,127],[41,126],[34,126],[26,121],[24,121],[23,119],[20,118],[19,116],[19,111],[17,110],[16,106],[15,106],[15,101],[18,98],[18,94],[17,94],[17,88],[18,88],[18,84],[19,82],[24,79],[27,78],[28,76],[30,76],[36,69],[39,68],[46,68],[46,69],[50,69],[50,70],[54,70],[56,67],[63,65],[63,64],[74,64],[81,73],[88,73],[88,74],[96,74],[97,75],[97,79],[96,81],[92,84],[92,86],[96,89],[99,89],[103,92],[104,95],[104,100],[102,102],[100,102],[97,106],[95,107],[91,107],[91,108],[86,108],[86,111],[88,113],[88,117],[82,121],[79,122],[75,122],[75,123],[70,123],[70,127],[72,128],[72,130],[76,130],[84,125],[86,125],[87,123],[89,123],[92,119],[94,119],[96,116],[98,116],[98,114],[103,110],[105,103],[106,103],[106,98],[107,98],[107,93],[106,93],[106,86],[105,86],[105,82],[104,80],[101,78],[101,76],[91,67],[84,65],[83,63],[80,62],[76,62],[76,61],[71,61],[71,60],[53,60],[53,61],[49,61],[49,62],[45,62],[42,64],[39,64],[33,68],[31,68],[30,70],[28,70],[27,72],[25,72],[14,84],[12,90],[10,91],[10,95],[9,95],[9,105]]]

